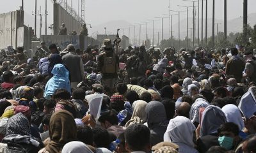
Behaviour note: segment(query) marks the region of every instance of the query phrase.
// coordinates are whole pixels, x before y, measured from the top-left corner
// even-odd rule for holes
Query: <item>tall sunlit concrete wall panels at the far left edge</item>
[[[0,48],[17,48],[18,28],[24,25],[24,12],[17,10],[0,14]]]

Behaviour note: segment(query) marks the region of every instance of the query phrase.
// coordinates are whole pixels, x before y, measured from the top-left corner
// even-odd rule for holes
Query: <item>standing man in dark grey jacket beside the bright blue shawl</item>
[[[63,55],[62,61],[68,67],[71,76],[71,87],[76,87],[79,82],[84,80],[84,66],[81,56],[76,55],[73,44],[67,46],[68,54]]]

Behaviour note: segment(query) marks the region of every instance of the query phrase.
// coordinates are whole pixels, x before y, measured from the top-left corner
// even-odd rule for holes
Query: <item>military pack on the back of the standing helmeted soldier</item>
[[[113,56],[108,57],[106,54],[103,55],[104,64],[102,67],[102,73],[116,73],[118,66],[116,65],[116,54],[113,53]]]

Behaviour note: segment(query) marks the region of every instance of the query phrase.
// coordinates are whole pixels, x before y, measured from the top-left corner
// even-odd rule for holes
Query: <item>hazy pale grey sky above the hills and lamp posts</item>
[[[45,0],[38,1],[38,10],[42,6],[42,13],[45,11]],[[75,10],[78,10],[78,3],[81,5],[81,0],[67,0]],[[52,1],[47,0],[48,8],[48,24],[52,24]],[[110,20],[126,20],[131,24],[143,22],[148,19],[156,19],[155,17],[163,17],[163,14],[168,13],[169,0],[85,0],[85,19],[87,23],[99,25]],[[223,0],[215,0],[216,3],[216,19],[223,18]],[[185,10],[177,5],[192,6],[193,3],[182,0],[171,0],[172,10]],[[197,2],[195,3],[197,5]],[[200,2],[200,11],[201,11]],[[243,16],[243,0],[227,0],[227,18],[237,18]],[[1,0],[0,13],[18,10],[21,5],[21,0]],[[205,6],[205,0],[204,0]],[[253,8],[254,6],[254,8]],[[248,0],[248,14],[255,13],[255,0]],[[81,9],[81,6],[79,7]],[[31,14],[35,11],[35,0],[24,0],[24,10]],[[81,11],[81,10],[80,10]],[[205,8],[204,8],[205,12]],[[173,12],[174,13],[174,12]],[[81,13],[80,13],[81,14]],[[212,16],[212,0],[208,0],[208,17]],[[192,17],[192,8],[189,11],[189,17]],[[186,13],[180,14],[180,19],[186,18]],[[166,20],[165,22],[168,22]],[[177,17],[173,17],[173,22],[177,22]],[[250,22],[250,21],[248,21]],[[28,25],[28,23],[25,23]],[[38,23],[39,25],[39,23]]]

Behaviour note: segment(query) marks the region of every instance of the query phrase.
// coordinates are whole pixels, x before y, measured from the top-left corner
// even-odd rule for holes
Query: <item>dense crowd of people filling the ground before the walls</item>
[[[253,50],[41,44],[0,62],[0,152],[256,152]]]

